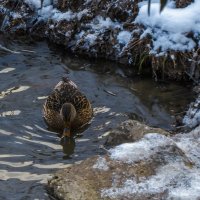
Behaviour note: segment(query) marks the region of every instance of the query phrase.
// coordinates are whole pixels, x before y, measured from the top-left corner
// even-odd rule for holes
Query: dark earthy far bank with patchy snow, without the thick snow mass
[[[152,53],[155,38],[148,27],[135,21],[140,2],[6,0],[0,3],[0,26],[6,33],[48,38],[75,54],[130,65],[138,73],[151,68],[156,80],[199,82],[198,35],[191,32],[184,36],[194,44],[192,50],[163,53],[158,49]],[[183,8],[191,2],[180,0],[175,6]]]

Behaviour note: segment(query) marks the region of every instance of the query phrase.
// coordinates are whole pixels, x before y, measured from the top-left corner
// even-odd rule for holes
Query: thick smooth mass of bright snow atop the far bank
[[[172,4],[167,6],[161,13],[160,4],[151,4],[151,14],[147,14],[147,5],[141,4],[135,23],[143,24],[152,36],[151,53],[156,54],[159,49],[186,51],[195,47],[195,42],[187,37],[187,33],[200,34],[200,0],[186,8],[176,9]]]

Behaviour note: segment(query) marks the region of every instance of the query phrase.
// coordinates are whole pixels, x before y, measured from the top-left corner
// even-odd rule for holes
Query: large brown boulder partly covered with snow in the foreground
[[[146,134],[57,172],[48,191],[66,200],[199,199],[199,134]]]

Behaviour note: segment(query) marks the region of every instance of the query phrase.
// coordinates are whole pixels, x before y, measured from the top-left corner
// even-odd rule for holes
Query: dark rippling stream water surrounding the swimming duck
[[[189,89],[128,78],[129,69],[66,55],[45,42],[12,42],[22,54],[0,52],[0,199],[49,199],[44,184],[53,172],[104,153],[101,135],[129,117],[167,130],[190,102]],[[63,75],[91,100],[95,116],[75,153],[63,159],[57,134],[48,131],[42,104]]]

